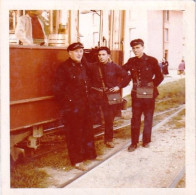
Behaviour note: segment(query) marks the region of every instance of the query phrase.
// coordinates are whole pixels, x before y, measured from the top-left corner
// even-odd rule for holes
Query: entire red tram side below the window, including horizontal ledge
[[[52,83],[66,49],[10,48],[11,132],[59,118]]]

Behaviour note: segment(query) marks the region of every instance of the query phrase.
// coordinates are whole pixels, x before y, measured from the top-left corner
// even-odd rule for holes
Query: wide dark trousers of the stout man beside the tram
[[[96,158],[94,133],[88,109],[65,112],[67,148],[71,164]]]

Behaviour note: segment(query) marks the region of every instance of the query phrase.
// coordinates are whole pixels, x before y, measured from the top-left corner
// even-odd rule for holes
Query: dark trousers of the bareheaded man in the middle
[[[119,105],[109,105],[107,101],[103,101],[101,108],[105,122],[104,142],[110,142],[113,140],[113,123],[118,113]]]

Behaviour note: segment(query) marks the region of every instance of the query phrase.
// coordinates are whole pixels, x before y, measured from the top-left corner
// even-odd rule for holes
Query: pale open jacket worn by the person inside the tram
[[[47,45],[48,40],[44,31],[44,24],[42,23],[42,21],[39,19],[38,20],[41,24],[43,33],[44,33],[44,41]],[[31,22],[31,17],[26,14],[24,16],[20,16],[18,18],[18,23],[16,26],[16,31],[15,31],[15,35],[16,38],[18,39],[18,41],[22,41],[23,45],[31,45],[33,44],[33,37],[32,37],[32,22]]]

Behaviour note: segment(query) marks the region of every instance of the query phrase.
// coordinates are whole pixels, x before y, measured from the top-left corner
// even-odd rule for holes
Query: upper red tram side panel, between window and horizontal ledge
[[[53,75],[66,49],[10,48],[10,101],[52,95]]]

